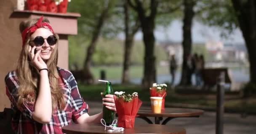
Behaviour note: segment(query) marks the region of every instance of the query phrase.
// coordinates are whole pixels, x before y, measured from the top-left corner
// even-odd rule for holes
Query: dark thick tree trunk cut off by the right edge
[[[256,83],[256,1],[232,0],[250,62],[250,82]]]

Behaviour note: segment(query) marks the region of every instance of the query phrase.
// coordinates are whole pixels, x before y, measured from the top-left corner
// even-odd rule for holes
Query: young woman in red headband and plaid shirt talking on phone
[[[62,134],[61,127],[99,123],[102,112],[88,115],[77,82],[68,70],[57,67],[59,36],[43,16],[20,24],[22,50],[15,71],[5,77],[6,94],[14,111],[18,134]],[[61,47],[61,46],[60,46]],[[113,95],[103,103],[116,111]]]

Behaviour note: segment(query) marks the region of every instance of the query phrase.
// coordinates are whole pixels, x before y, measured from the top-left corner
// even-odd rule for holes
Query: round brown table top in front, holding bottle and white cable
[[[108,132],[101,124],[71,124],[64,126],[62,132],[66,134],[186,134],[186,130],[181,127],[143,124],[135,125],[134,128],[124,129],[122,132]],[[110,128],[109,128],[110,129]]]

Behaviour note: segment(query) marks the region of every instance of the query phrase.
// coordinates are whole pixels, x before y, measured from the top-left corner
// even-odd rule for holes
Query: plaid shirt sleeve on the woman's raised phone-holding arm
[[[17,101],[19,98],[17,95],[19,89],[19,81],[15,71],[11,71],[5,76],[5,87],[6,95],[11,101],[11,108],[15,111],[15,109],[17,109]],[[34,104],[24,102],[23,105],[21,105],[21,107],[18,109],[24,116],[32,119]]]

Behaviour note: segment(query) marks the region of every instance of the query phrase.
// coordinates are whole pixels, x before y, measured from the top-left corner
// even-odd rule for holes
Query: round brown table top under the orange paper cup
[[[161,113],[152,113],[151,108],[141,108],[137,115],[147,117],[191,117],[203,115],[203,110],[190,108],[165,108]]]

